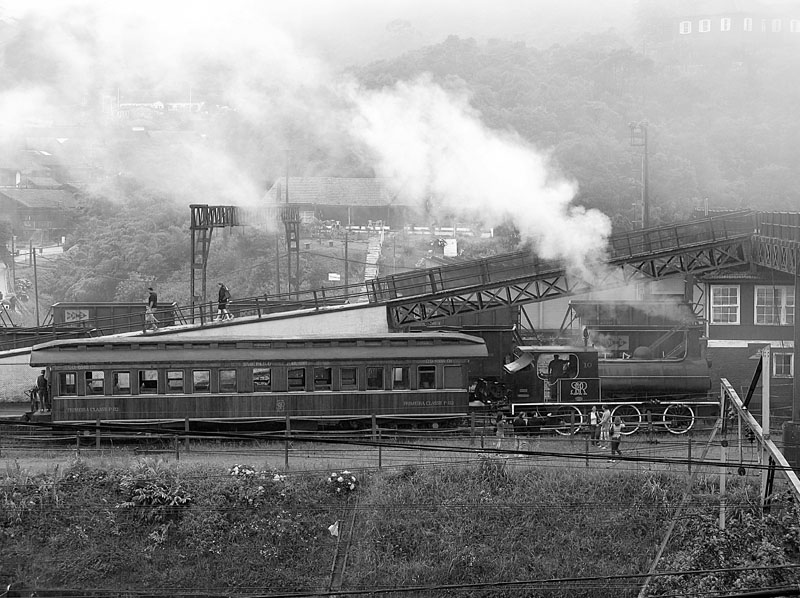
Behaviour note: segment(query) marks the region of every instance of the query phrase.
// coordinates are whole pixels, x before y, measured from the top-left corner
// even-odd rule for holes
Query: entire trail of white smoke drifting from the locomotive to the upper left
[[[19,35],[36,43],[21,54],[6,46],[6,65],[19,61],[24,76],[0,93],[0,114],[93,126],[93,153],[107,171],[187,203],[258,205],[293,144],[313,143],[329,157],[356,154],[406,201],[488,226],[510,220],[541,257],[584,274],[594,269],[610,222],[572,203],[575,184],[546,152],[489,129],[467,93],[430,78],[370,90],[335,74],[281,27],[289,12],[265,8],[275,4],[7,2]],[[213,118],[146,142],[107,141],[126,101],[205,99],[193,90],[214,96]],[[146,106],[127,118],[122,125],[131,129],[159,122]],[[272,163],[259,165],[264,156]],[[260,179],[265,170],[271,175]],[[301,173],[319,174],[295,164],[292,174]]]

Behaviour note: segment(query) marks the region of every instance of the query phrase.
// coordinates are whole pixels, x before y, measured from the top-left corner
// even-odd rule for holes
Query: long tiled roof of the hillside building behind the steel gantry
[[[278,188],[281,197],[277,198]],[[285,201],[286,179],[279,179],[265,196],[267,203]],[[388,189],[385,179],[289,177],[289,203],[342,206],[410,205]]]

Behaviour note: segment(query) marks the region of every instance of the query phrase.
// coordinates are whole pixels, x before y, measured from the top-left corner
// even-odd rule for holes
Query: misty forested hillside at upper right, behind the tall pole
[[[631,122],[646,121],[651,223],[712,208],[792,210],[800,205],[800,53],[792,47],[695,55],[670,45],[647,54],[609,32],[537,50],[501,40],[444,43],[361,70],[372,86],[429,72],[469,92],[485,122],[552,153],[577,180],[577,203],[630,227],[641,201],[642,148]],[[792,73],[795,73],[794,75]]]

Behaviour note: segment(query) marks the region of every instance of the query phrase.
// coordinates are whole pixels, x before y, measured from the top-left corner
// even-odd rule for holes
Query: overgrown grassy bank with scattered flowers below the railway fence
[[[39,595],[324,593],[337,552],[346,552],[343,591],[635,596],[637,580],[624,576],[649,569],[687,479],[685,471],[450,454],[355,469],[356,490],[337,494],[329,475],[352,454],[293,455],[285,470],[275,445],[256,448],[193,447],[180,461],[169,451],[93,452],[35,469],[7,461],[0,584],[22,582]],[[698,476],[681,543],[690,543],[694,522],[716,516],[716,479]],[[729,481],[742,500],[731,500],[731,512],[745,517],[753,493],[735,486]],[[328,531],[336,521],[338,538]],[[690,568],[686,557],[672,562]],[[592,581],[609,575],[623,577]],[[530,581],[556,579],[572,581]]]

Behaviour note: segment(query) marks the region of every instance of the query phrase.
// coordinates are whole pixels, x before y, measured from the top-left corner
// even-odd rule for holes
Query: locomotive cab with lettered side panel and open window
[[[583,403],[600,399],[597,350],[572,346],[519,346],[503,368],[512,374],[518,401]]]

